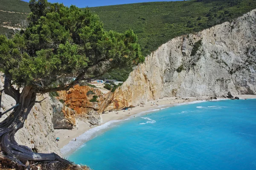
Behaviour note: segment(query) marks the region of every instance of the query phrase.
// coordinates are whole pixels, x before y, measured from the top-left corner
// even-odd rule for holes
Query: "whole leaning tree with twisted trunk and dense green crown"
[[[0,36],[0,71],[4,93],[18,106],[0,122],[0,158],[25,166],[26,161],[58,160],[55,153],[34,153],[17,144],[15,133],[23,127],[36,95],[68,90],[83,77],[97,77],[112,68],[144,61],[137,36],[104,31],[99,17],[89,9],[66,7],[47,0],[31,0],[28,27],[12,39]],[[65,77],[76,79],[66,84]],[[0,115],[2,116],[2,115]]]

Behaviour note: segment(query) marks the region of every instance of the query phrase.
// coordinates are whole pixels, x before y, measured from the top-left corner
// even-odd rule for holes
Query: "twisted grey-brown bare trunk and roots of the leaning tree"
[[[12,87],[8,77],[5,79],[5,93],[20,105],[10,115],[0,122],[0,158],[9,159],[18,165],[26,166],[26,161],[61,161],[70,164],[55,153],[34,153],[29,147],[17,144],[15,133],[23,127],[25,120],[35,105],[36,93],[32,86],[25,86],[21,93]],[[6,83],[7,82],[7,83]]]

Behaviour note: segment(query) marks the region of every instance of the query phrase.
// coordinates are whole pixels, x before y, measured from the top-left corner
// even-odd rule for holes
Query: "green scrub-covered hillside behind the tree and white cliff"
[[[256,0],[188,0],[175,2],[134,3],[90,8],[99,15],[104,28],[124,32],[132,28],[146,56],[174,37],[197,32],[230,21],[256,8]],[[28,3],[0,0],[0,10],[29,12]],[[13,31],[3,26],[22,28],[27,14],[0,11],[0,34]],[[130,70],[113,71],[104,77],[125,80]]]

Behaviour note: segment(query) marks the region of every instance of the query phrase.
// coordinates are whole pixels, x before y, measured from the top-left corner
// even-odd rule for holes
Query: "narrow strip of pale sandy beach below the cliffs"
[[[241,99],[249,99],[249,98],[256,98],[256,95],[235,95],[238,96]],[[150,111],[154,109],[160,109],[160,108],[168,108],[173,107],[174,105],[186,103],[186,102],[194,102],[194,101],[200,101],[208,99],[209,96],[203,96],[200,97],[200,99],[197,99],[196,97],[186,97],[185,99],[176,99],[176,97],[165,97],[163,99],[154,100],[146,102],[145,105],[139,105],[135,108],[129,109],[127,111],[112,111],[106,114],[102,114],[102,125],[106,122],[109,122],[111,120],[120,120],[120,119],[126,119],[129,116],[135,115],[137,113],[143,112],[143,111]],[[155,105],[154,105],[155,103]],[[78,128],[74,128],[72,130],[67,129],[56,129],[55,134],[56,137],[59,137],[60,140],[57,142],[58,147],[62,148],[66,144],[68,144],[71,140],[75,140],[76,137],[80,136],[90,128],[96,127],[96,125],[90,127],[90,124],[79,121],[78,122]]]

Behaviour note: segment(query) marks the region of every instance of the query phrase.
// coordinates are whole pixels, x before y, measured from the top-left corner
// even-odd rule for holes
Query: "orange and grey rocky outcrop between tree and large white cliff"
[[[75,85],[69,91],[58,91],[58,94],[52,102],[54,128],[73,128],[78,119],[91,125],[101,125],[102,117],[97,111],[105,95],[99,89]],[[97,96],[97,102],[90,102],[93,96]]]

